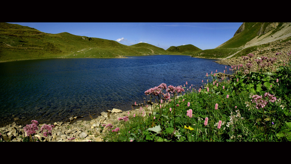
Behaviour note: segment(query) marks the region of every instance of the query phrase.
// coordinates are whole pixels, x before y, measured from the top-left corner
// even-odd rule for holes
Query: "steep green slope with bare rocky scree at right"
[[[246,22],[225,43],[214,49],[198,51],[192,57],[229,58],[246,55],[257,50],[258,46],[268,46],[272,41],[290,37],[290,25],[283,22]]]

